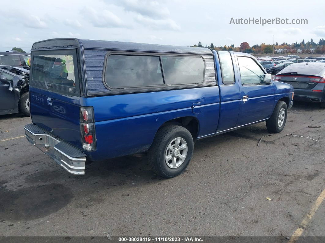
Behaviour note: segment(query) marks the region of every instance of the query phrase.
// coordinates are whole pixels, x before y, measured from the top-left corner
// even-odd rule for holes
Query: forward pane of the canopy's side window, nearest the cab
[[[201,57],[162,56],[166,84],[203,82],[204,61]]]

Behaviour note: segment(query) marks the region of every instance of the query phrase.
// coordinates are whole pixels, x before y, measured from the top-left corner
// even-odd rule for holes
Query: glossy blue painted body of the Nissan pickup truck
[[[92,92],[96,92],[96,87],[100,92],[105,91],[100,79],[104,55],[107,51],[103,51],[104,47],[95,52],[86,51],[84,48],[79,41],[76,51],[80,58],[81,96],[62,95],[30,86],[30,110],[34,124],[82,150],[80,106],[93,107],[97,149],[90,152],[83,150],[87,158],[93,161],[148,151],[157,130],[173,119],[182,117],[196,119],[198,132],[195,136],[200,139],[265,120],[270,117],[280,99],[287,99],[289,103],[292,99],[293,88],[285,83],[272,81],[268,85],[242,86],[237,55],[250,56],[248,54],[230,52],[235,83],[223,84],[218,55],[215,51],[207,52],[205,48],[197,49],[204,49],[201,55],[208,55],[206,65],[207,60],[212,60],[213,57],[214,63],[210,63],[212,66],[205,72],[214,69],[215,76],[210,74],[209,77],[215,77],[216,81],[209,85],[136,93],[107,92],[107,94],[89,95],[88,86],[92,87]],[[91,49],[87,48],[87,50]],[[135,51],[145,51],[140,50],[140,47],[138,49]],[[193,50],[198,51],[197,49]],[[191,51],[192,49],[178,52],[184,54]],[[84,52],[87,55],[84,55]],[[173,50],[173,53],[177,51]],[[95,71],[90,71],[91,68]],[[245,95],[248,95],[249,99],[243,102],[242,97]],[[52,101],[51,105],[48,99]]]

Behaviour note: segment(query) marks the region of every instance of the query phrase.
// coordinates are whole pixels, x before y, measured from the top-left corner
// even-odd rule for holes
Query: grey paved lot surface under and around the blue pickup
[[[187,170],[172,179],[153,174],[146,156],[72,176],[24,137],[6,140],[24,135],[27,123],[0,116],[0,236],[285,237],[325,188],[318,104],[295,103],[284,131],[259,146],[265,123],[197,141]],[[325,236],[324,203],[303,236]]]

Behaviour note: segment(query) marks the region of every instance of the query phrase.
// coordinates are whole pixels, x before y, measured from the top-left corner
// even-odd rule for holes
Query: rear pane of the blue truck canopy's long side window
[[[111,88],[163,84],[159,56],[109,55],[105,82]]]

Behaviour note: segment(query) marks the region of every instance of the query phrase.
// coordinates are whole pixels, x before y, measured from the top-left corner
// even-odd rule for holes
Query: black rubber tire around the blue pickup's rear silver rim
[[[182,138],[186,141],[187,154],[182,164],[176,168],[170,168],[165,161],[165,155],[167,155],[167,147],[176,138]],[[151,144],[148,151],[148,161],[151,169],[158,175],[164,178],[172,178],[181,174],[193,155],[194,143],[191,133],[184,127],[178,125],[167,125],[160,128]],[[165,154],[166,153],[166,154]],[[175,151],[176,154],[177,151]],[[179,151],[181,153],[181,151]],[[172,152],[172,155],[174,151]],[[176,156],[175,156],[176,157]],[[176,159],[177,160],[177,159]],[[179,160],[178,160],[179,161]]]

